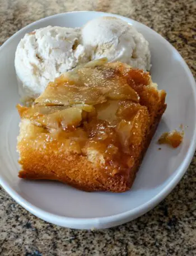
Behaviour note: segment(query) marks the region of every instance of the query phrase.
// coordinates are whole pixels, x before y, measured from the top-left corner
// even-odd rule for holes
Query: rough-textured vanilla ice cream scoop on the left
[[[55,77],[89,60],[80,36],[80,29],[48,26],[21,39],[15,55],[21,100],[35,99]]]

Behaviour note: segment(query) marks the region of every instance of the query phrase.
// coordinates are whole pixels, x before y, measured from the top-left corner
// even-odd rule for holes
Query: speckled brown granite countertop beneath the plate
[[[32,21],[55,13],[118,13],[166,38],[195,75],[194,0],[0,0],[0,44]],[[0,188],[1,256],[196,255],[196,156],[173,192],[156,208],[108,230],[78,231],[48,224]]]

